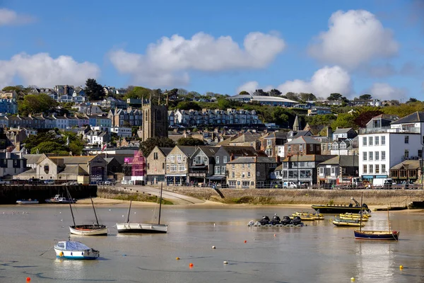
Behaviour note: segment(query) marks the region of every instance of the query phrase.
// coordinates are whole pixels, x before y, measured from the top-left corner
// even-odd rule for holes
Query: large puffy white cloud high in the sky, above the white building
[[[329,19],[329,30],[310,46],[312,57],[329,64],[355,68],[377,57],[390,57],[399,50],[391,30],[374,14],[364,10],[337,11]]]

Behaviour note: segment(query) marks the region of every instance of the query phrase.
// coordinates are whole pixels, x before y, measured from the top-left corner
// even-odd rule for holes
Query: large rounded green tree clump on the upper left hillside
[[[18,104],[18,110],[21,115],[26,116],[30,113],[50,112],[58,104],[56,100],[45,93],[28,94]]]

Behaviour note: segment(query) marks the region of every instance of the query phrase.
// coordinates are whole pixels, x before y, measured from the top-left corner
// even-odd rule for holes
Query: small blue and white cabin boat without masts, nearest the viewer
[[[100,256],[98,250],[76,241],[60,241],[54,245],[54,251],[57,258],[66,260],[95,260]]]

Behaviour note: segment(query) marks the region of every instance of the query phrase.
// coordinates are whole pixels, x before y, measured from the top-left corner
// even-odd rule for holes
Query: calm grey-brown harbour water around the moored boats
[[[153,210],[134,207],[130,221],[151,221]],[[71,239],[100,250],[100,260],[71,261],[57,259],[52,249],[68,238],[68,206],[4,206],[0,282],[25,282],[27,277],[31,282],[338,283],[352,277],[355,282],[424,282],[423,213],[391,212],[392,229],[401,231],[399,242],[355,240],[354,228],[334,226],[331,215],[304,227],[247,226],[262,215],[294,210],[165,206],[161,223],[169,224],[167,234],[126,235],[114,228],[125,221],[126,207],[99,207],[96,212],[109,235]],[[77,224],[95,221],[90,207],[78,207],[74,214]],[[387,212],[372,212],[365,229],[387,229]]]

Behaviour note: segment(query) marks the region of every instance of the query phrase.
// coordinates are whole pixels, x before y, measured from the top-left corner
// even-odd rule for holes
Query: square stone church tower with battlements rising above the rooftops
[[[150,99],[148,103],[143,102],[141,110],[143,111],[141,141],[146,141],[150,137],[167,137],[167,106],[153,105]]]

